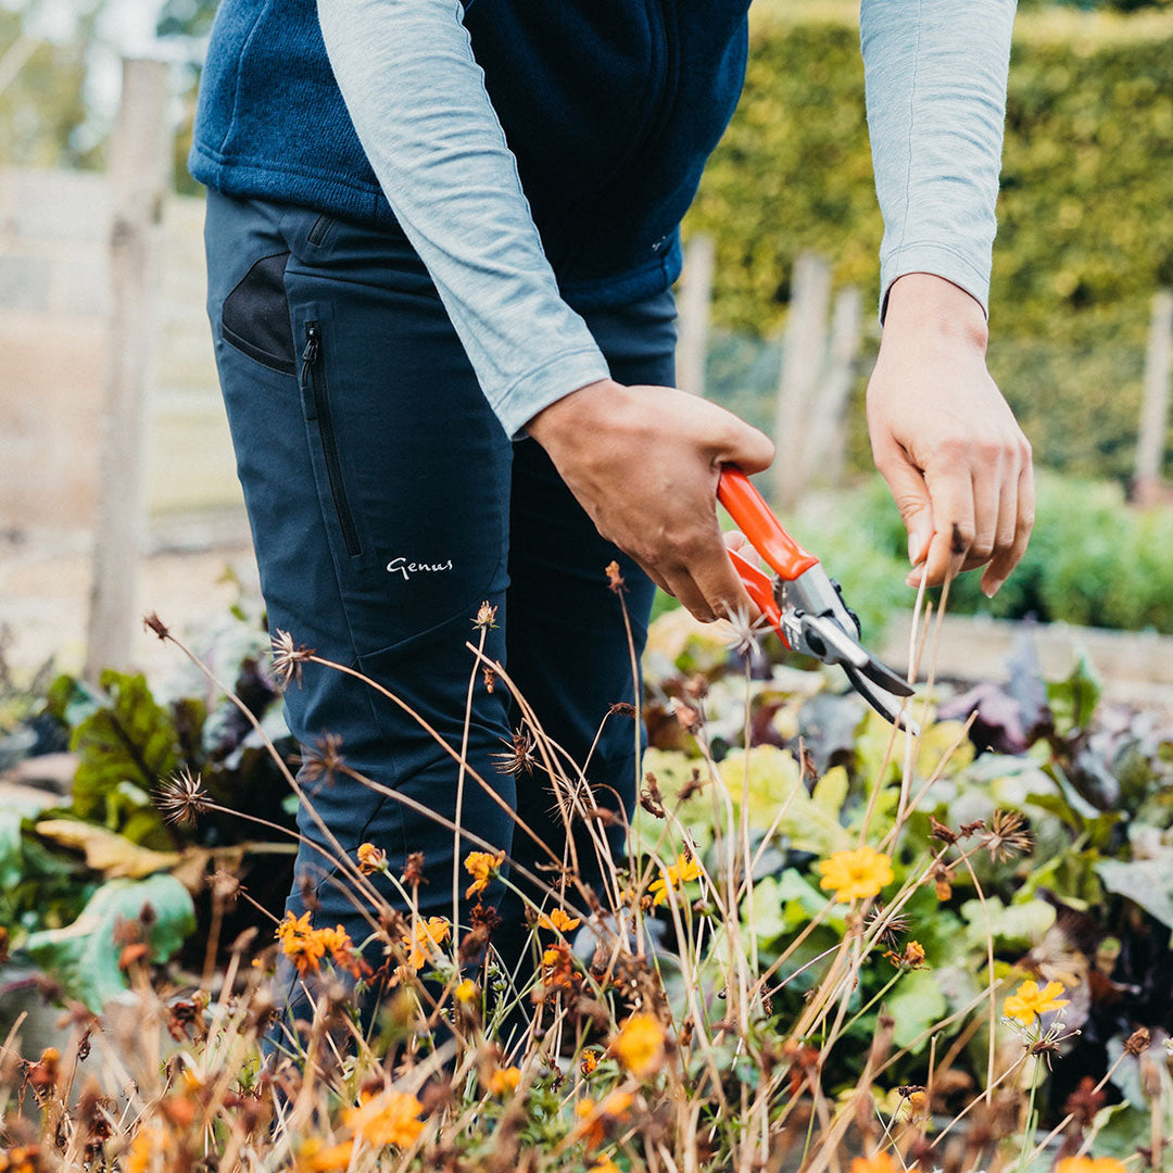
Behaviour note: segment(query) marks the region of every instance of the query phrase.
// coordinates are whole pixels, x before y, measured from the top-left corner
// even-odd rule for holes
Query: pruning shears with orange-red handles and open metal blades
[[[852,687],[877,713],[916,733],[915,723],[903,714],[902,698],[913,696],[911,685],[860,643],[860,621],[822,563],[782,529],[750,477],[735,466],[721,469],[717,496],[778,576],[771,578],[737,550],[730,550],[746,592],[782,643],[825,664],[839,664]]]

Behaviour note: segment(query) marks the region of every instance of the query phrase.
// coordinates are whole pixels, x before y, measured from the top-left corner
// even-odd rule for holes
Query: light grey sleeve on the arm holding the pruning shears
[[[513,435],[606,378],[562,300],[457,0],[319,0],[359,140]]]

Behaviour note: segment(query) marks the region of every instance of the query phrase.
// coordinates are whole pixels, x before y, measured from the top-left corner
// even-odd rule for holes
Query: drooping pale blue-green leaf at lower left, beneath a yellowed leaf
[[[73,924],[32,934],[26,951],[67,994],[101,1013],[110,998],[127,989],[118,969],[115,928],[120,921],[137,920],[144,904],[155,914],[148,936],[150,960],[168,961],[196,928],[191,896],[171,875],[107,881]]]

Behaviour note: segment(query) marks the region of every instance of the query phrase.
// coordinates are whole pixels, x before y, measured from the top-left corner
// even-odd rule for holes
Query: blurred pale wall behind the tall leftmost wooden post
[[[240,509],[204,312],[202,226],[199,199],[167,201],[145,429],[155,530]],[[93,523],[109,232],[102,175],[0,169],[0,533]]]

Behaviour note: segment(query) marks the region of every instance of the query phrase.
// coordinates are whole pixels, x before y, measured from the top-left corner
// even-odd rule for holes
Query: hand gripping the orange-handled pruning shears
[[[603,537],[698,619],[753,616],[717,520],[723,465],[759,473],[774,446],[674,387],[589,384],[527,425]]]

